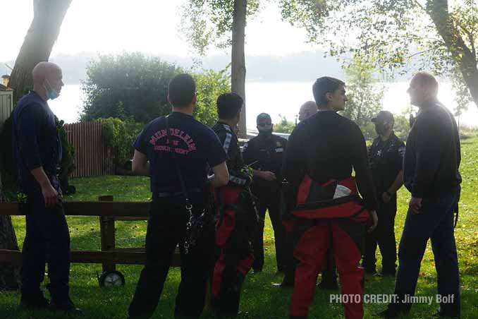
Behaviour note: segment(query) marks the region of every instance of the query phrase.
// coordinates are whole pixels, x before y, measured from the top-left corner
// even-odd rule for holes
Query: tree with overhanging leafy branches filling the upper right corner
[[[360,55],[392,75],[431,69],[478,106],[476,1],[279,1],[283,18],[332,55]]]

